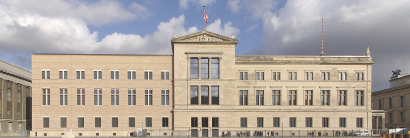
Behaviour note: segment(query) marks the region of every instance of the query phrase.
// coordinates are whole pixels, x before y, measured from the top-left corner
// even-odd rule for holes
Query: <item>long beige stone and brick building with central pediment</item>
[[[237,42],[202,31],[173,38],[173,55],[33,54],[30,135],[371,129],[370,56],[239,56]]]

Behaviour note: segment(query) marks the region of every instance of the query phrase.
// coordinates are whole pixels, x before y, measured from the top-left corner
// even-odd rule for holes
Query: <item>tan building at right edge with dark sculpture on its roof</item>
[[[410,102],[406,99],[410,98],[410,73],[395,75],[389,81],[389,89],[372,93],[373,109],[386,111],[384,128],[409,128]]]

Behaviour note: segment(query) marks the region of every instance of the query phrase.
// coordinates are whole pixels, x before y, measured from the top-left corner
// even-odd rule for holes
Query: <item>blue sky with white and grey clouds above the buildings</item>
[[[410,0],[1,0],[0,60],[31,70],[33,53],[172,54],[203,30],[239,40],[236,55],[370,55],[372,91],[410,72]]]

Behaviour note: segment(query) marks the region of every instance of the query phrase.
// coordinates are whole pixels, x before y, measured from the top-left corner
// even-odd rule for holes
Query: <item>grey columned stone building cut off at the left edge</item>
[[[0,136],[31,128],[31,72],[0,60]]]

